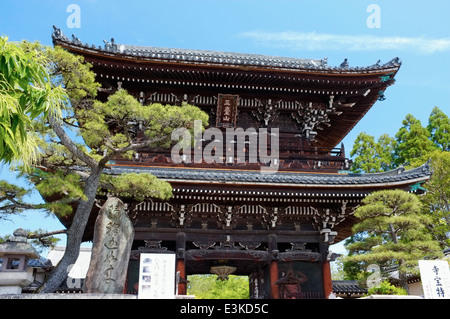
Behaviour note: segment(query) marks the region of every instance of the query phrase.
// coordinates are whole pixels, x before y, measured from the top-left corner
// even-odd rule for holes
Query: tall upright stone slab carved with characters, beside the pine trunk
[[[110,197],[95,221],[91,262],[83,286],[85,293],[124,292],[134,228],[122,201]]]

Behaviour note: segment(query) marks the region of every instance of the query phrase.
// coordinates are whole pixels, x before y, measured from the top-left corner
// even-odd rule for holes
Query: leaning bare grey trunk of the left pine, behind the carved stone
[[[47,281],[39,288],[40,293],[51,293],[58,289],[61,283],[67,278],[69,266],[75,264],[77,261],[84,230],[94,206],[101,172],[102,169],[99,167],[91,170],[91,174],[84,188],[84,195],[87,200],[80,200],[72,224],[67,232],[67,244],[64,255],[56,268],[50,273]]]

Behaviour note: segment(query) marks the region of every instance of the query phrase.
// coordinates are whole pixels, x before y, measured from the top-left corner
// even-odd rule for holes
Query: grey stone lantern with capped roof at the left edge
[[[14,237],[0,244],[0,294],[21,294],[22,288],[33,282],[33,271],[28,267],[28,259],[37,259],[39,254],[27,243],[27,233],[16,229]]]

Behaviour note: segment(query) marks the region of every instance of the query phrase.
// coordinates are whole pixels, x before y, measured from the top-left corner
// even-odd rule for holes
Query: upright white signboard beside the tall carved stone
[[[175,254],[141,254],[138,298],[175,296]]]

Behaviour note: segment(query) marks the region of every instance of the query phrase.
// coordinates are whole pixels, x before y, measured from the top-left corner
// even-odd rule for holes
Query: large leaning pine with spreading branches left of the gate
[[[194,120],[206,126],[208,115],[187,104],[142,105],[125,90],[118,90],[106,102],[97,101],[99,84],[91,65],[82,57],[37,43],[24,47],[48,58],[46,67],[52,85],[62,85],[68,96],[60,117],[48,114],[29,125],[38,135],[40,154],[35,169],[27,175],[46,200],[46,209],[72,216],[65,254],[40,288],[40,292],[53,292],[78,257],[98,196],[172,196],[170,185],[150,174],[104,176],[108,161],[116,156],[131,158],[143,148],[168,147],[174,129],[192,131]]]

